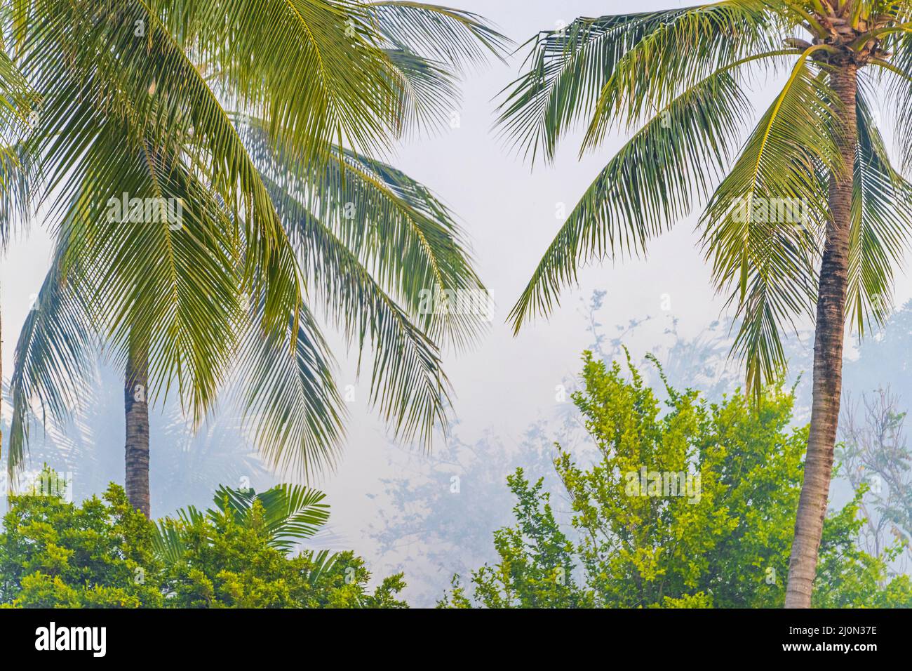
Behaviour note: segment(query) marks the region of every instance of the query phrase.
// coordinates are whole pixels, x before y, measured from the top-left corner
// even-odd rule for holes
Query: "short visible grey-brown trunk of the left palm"
[[[147,518],[149,504],[149,353],[145,347],[130,346],[124,380],[124,409],[127,413],[127,498]]]

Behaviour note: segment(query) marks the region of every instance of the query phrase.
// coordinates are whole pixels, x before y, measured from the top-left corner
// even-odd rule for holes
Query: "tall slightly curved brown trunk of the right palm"
[[[843,378],[843,339],[845,332],[845,287],[848,276],[849,229],[852,224],[852,189],[855,166],[857,124],[855,92],[857,70],[854,64],[837,68],[831,85],[842,101],[838,110],[845,134],[839,139],[843,171],[830,178],[830,211],[824,258],[820,267],[817,322],[814,337],[814,400],[811,431],[804,459],[804,482],[798,513],[789,582],[785,592],[786,608],[810,608],[811,590],[817,570],[817,551],[824,529],[826,502],[833,471],[833,450]]]

